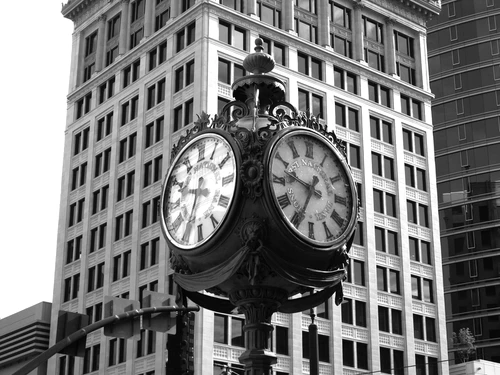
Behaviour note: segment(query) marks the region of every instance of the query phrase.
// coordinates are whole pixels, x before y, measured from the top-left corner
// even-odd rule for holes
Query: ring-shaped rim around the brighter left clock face
[[[179,243],[173,236],[171,236],[168,228],[167,228],[167,223],[166,223],[166,208],[165,208],[165,202],[166,202],[166,193],[167,193],[167,188],[169,186],[169,181],[172,177],[172,173],[174,171],[174,166],[177,165],[179,160],[186,154],[187,151],[198,141],[200,141],[203,138],[218,138],[219,140],[226,142],[226,144],[229,146],[229,149],[232,153],[232,157],[234,160],[234,174],[235,174],[235,183],[234,183],[234,190],[233,194],[230,197],[228,206],[226,208],[226,211],[224,213],[224,216],[220,220],[217,228],[213,232],[210,233],[206,238],[203,239],[201,242],[197,242],[193,245],[185,245],[182,243]],[[160,220],[161,220],[161,228],[164,234],[165,239],[167,240],[167,243],[169,246],[174,247],[177,251],[185,251],[189,252],[189,254],[196,254],[198,250],[203,250],[207,244],[210,243],[217,243],[215,242],[217,238],[220,236],[224,235],[224,230],[223,228],[226,227],[228,223],[231,222],[231,217],[234,216],[234,212],[236,211],[234,207],[238,204],[239,201],[239,194],[237,193],[240,190],[240,182],[238,178],[238,171],[240,169],[241,165],[241,160],[239,153],[237,152],[237,145],[236,142],[232,139],[232,137],[229,137],[226,135],[226,133],[218,130],[218,129],[207,129],[203,130],[200,133],[196,134],[191,140],[189,140],[183,147],[182,149],[179,150],[177,155],[175,155],[174,159],[172,160],[169,169],[165,175],[163,185],[162,185],[162,191],[161,191],[161,199],[160,199]]]

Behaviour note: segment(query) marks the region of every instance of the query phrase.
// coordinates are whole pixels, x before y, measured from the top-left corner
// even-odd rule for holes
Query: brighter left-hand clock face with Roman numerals
[[[164,229],[183,249],[206,242],[221,226],[236,187],[232,147],[217,134],[195,138],[176,157],[163,192]]]

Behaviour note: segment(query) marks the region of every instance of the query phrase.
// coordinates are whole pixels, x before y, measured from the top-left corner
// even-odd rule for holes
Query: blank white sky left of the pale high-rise
[[[61,0],[2,7],[0,319],[52,302],[73,32]]]

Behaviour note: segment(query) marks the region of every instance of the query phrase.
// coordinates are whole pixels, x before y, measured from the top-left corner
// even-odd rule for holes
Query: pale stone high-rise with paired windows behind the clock
[[[318,309],[320,373],[446,374],[425,28],[439,10],[433,0],[63,5],[75,30],[53,316],[95,321],[104,296],[172,291],[155,209],[170,150],[196,114],[232,100],[231,82],[261,37],[286,100],[346,142],[360,192],[345,302]],[[196,316],[195,374],[241,373],[242,315]],[[274,315],[276,374],[309,373],[310,321]],[[84,359],[58,356],[49,372],[164,374],[166,344],[165,334],[97,331]]]

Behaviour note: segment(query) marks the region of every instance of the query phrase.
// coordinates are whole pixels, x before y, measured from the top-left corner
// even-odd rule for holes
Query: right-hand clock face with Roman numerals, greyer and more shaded
[[[315,133],[287,133],[271,150],[269,181],[277,209],[304,240],[331,246],[355,215],[353,180],[340,153]]]

